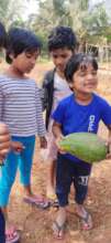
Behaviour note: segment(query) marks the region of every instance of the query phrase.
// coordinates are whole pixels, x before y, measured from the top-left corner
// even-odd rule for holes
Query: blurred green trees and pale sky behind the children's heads
[[[35,0],[0,0],[0,21],[5,28],[23,27],[34,31],[46,54],[47,35],[58,25],[69,25],[79,42],[111,43],[111,19],[104,1],[90,6],[90,0],[36,0],[37,11],[25,17],[26,7]]]

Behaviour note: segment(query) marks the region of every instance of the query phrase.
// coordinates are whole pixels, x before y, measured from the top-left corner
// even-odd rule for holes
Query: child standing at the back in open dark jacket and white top
[[[47,166],[47,198],[54,201],[55,196],[55,166],[57,159],[57,148],[52,134],[52,113],[58,102],[71,94],[71,91],[65,80],[64,71],[67,61],[76,52],[77,40],[74,31],[69,27],[56,27],[48,36],[48,52],[55,65],[54,70],[46,73],[43,81],[43,107],[46,109],[46,128],[47,128],[47,155],[45,160]]]

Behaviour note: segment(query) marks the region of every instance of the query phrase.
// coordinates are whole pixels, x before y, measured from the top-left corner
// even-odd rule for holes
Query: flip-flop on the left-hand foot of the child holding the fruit
[[[57,240],[63,240],[64,239],[65,228],[66,228],[66,222],[63,223],[62,225],[59,225],[57,221],[54,221],[52,229],[53,229],[53,232],[54,232],[54,236]],[[62,233],[62,235],[59,235],[60,233]]]

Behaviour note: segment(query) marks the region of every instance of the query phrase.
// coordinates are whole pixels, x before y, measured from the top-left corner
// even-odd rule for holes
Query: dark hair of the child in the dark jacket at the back
[[[71,28],[56,27],[48,35],[48,51],[67,47],[74,51],[77,47],[77,39]]]

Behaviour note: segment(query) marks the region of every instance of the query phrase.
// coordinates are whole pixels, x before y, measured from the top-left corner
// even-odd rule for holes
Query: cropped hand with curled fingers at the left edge
[[[10,151],[10,147],[11,137],[8,126],[3,123],[0,123],[0,165],[2,165],[7,154]]]

